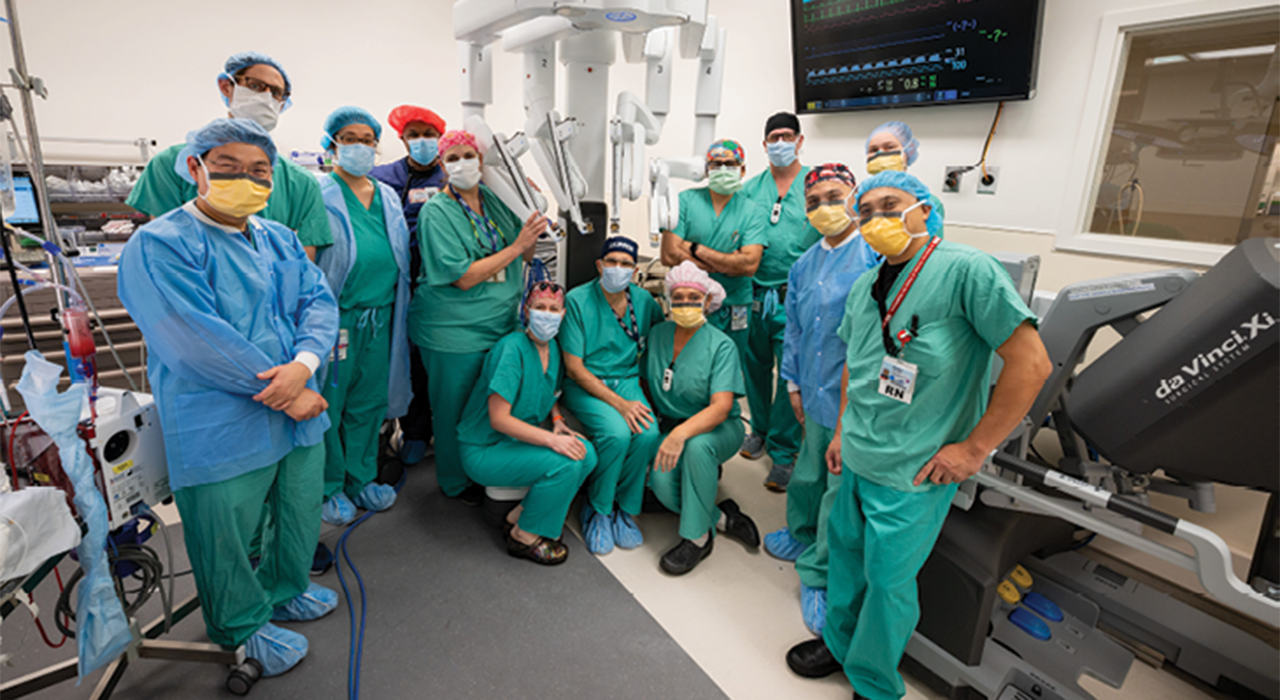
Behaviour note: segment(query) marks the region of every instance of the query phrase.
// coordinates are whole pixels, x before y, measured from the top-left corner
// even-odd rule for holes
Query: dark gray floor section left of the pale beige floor
[[[326,531],[323,539],[335,545],[339,534]],[[500,535],[477,509],[445,499],[431,467],[411,468],[396,507],[361,525],[348,540],[369,594],[361,695],[724,697],[568,530],[566,543],[572,554],[559,567],[507,557]],[[175,567],[182,571],[180,536],[177,544],[180,561]],[[191,577],[180,581],[179,599],[192,591]],[[339,587],[333,571],[317,581]],[[349,569],[347,582],[355,586]],[[44,594],[41,617],[51,627],[56,586],[50,581],[37,593]],[[358,612],[358,594],[352,593]],[[150,621],[157,609],[148,603],[138,618]],[[28,614],[10,616],[0,627],[0,653],[15,654],[13,665],[0,667],[0,680],[74,654],[73,642],[47,649],[32,627]],[[288,627],[307,635],[308,656],[288,674],[260,682],[251,697],[343,697],[349,641],[346,604],[321,621]],[[177,626],[170,639],[204,641],[198,616]],[[73,681],[31,697],[88,697],[97,676],[79,687]],[[225,672],[216,665],[140,660],[115,697],[232,697],[224,681]]]

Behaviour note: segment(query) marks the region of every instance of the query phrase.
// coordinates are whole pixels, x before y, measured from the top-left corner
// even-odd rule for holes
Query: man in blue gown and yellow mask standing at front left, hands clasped
[[[271,137],[253,122],[191,132],[175,170],[197,197],[138,229],[119,269],[120,299],[150,351],[209,639],[244,645],[265,676],[307,653],[306,637],[271,621],[337,607],[308,572],[329,427],[312,375],[338,339],[338,306],[298,237],[253,215],[275,164]],[[255,569],[250,543],[264,514]]]

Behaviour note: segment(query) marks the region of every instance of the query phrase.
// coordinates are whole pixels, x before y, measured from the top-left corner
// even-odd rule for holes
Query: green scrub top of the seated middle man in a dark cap
[[[564,297],[564,322],[561,324],[561,349],[581,357],[586,370],[596,379],[630,379],[640,374],[640,352],[649,340],[649,329],[662,322],[662,306],[641,287],[627,289],[635,311],[637,339],[632,340],[622,322],[631,325],[631,315],[620,319],[604,298],[600,280],[593,280],[570,290]],[[590,339],[590,340],[589,340]]]

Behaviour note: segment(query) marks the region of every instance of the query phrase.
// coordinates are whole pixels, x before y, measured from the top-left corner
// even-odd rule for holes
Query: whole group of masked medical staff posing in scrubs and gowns
[[[644,543],[646,490],[680,517],[663,571],[692,571],[717,534],[758,548],[717,495],[735,454],[768,453],[787,526],[764,545],[795,562],[818,635],[788,665],[904,695],[915,577],[956,485],[1048,374],[1000,264],[942,239],[941,203],[906,173],[906,124],[872,132],[861,183],[841,163],[801,165],[794,114],[767,120],[769,166],[749,180],[744,147],[713,143],[707,187],[680,195],[663,232],[666,312],[623,237],[567,293],[526,274],[548,220],[512,214],[481,182],[475,136],[435,113],[393,110],[407,156],[375,166],[380,122],[334,110],[317,134],[333,169],[316,177],[269,134],[292,99],[279,63],[237,54],[218,87],[228,118],[154,157],[131,195],[155,219],[119,273],[212,641],[244,645],[266,676],[306,655],[273,622],[337,607],[308,578],[320,525],[394,504],[376,476],[398,418],[401,459],[434,444],[447,497],[527,489],[502,534],[539,564],[566,561],[584,486],[595,554]]]

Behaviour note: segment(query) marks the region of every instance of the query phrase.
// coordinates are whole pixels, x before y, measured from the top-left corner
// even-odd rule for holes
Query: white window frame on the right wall
[[[1075,156],[1066,180],[1062,221],[1055,243],[1057,250],[1203,266],[1216,265],[1231,250],[1231,246],[1219,243],[1092,233],[1089,223],[1096,200],[1094,188],[1102,175],[1110,141],[1108,127],[1120,104],[1120,87],[1133,33],[1272,15],[1275,10],[1275,0],[1193,0],[1115,10],[1102,15],[1080,129],[1073,151]]]

